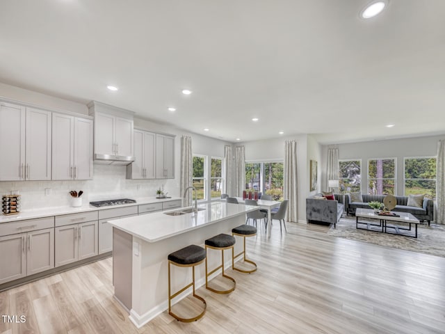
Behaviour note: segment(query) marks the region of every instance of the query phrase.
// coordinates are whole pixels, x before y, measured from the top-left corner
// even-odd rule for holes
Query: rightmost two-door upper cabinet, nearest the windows
[[[156,134],[156,179],[175,178],[175,137]]]

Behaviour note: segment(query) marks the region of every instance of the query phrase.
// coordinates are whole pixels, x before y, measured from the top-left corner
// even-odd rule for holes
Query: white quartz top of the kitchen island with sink
[[[226,202],[212,202],[198,205],[204,210],[197,214],[183,214],[181,216],[169,216],[165,212],[181,211],[177,208],[165,212],[155,212],[145,216],[133,216],[109,221],[119,230],[132,234],[148,242],[161,241],[177,234],[202,228],[204,225],[223,221],[227,218],[241,216],[246,212],[257,210],[258,207],[250,205],[238,205]]]

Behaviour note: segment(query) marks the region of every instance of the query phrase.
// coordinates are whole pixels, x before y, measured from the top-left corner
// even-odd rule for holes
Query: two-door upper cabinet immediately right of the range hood
[[[155,178],[155,141],[156,134],[138,129],[134,130],[135,161],[127,166],[127,178]]]

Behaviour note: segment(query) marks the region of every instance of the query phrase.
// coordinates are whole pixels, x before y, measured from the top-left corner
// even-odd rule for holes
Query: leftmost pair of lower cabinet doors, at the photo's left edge
[[[54,228],[0,237],[0,284],[54,268]]]

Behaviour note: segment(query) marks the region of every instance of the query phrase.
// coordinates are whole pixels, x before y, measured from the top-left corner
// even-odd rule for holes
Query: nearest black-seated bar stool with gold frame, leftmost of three
[[[177,250],[175,253],[171,253],[168,255],[168,314],[177,319],[178,321],[184,321],[184,322],[192,322],[196,321],[197,319],[200,319],[204,313],[206,312],[207,303],[206,301],[195,294],[195,266],[198,264],[202,264],[204,260],[207,260],[206,257],[206,250],[200,246],[196,245],[190,245],[184,248],[181,248],[180,250]],[[192,267],[193,268],[193,281],[189,285],[186,285],[182,289],[180,289],[175,294],[171,294],[170,289],[170,264],[173,264],[177,267]],[[206,261],[207,264],[207,261]],[[193,318],[181,318],[178,315],[175,315],[175,313],[172,312],[172,299],[174,299],[178,294],[181,294],[181,292],[184,292],[189,287],[193,286],[193,297],[196,299],[199,299],[204,303],[204,310],[200,313],[200,315],[197,315]]]

